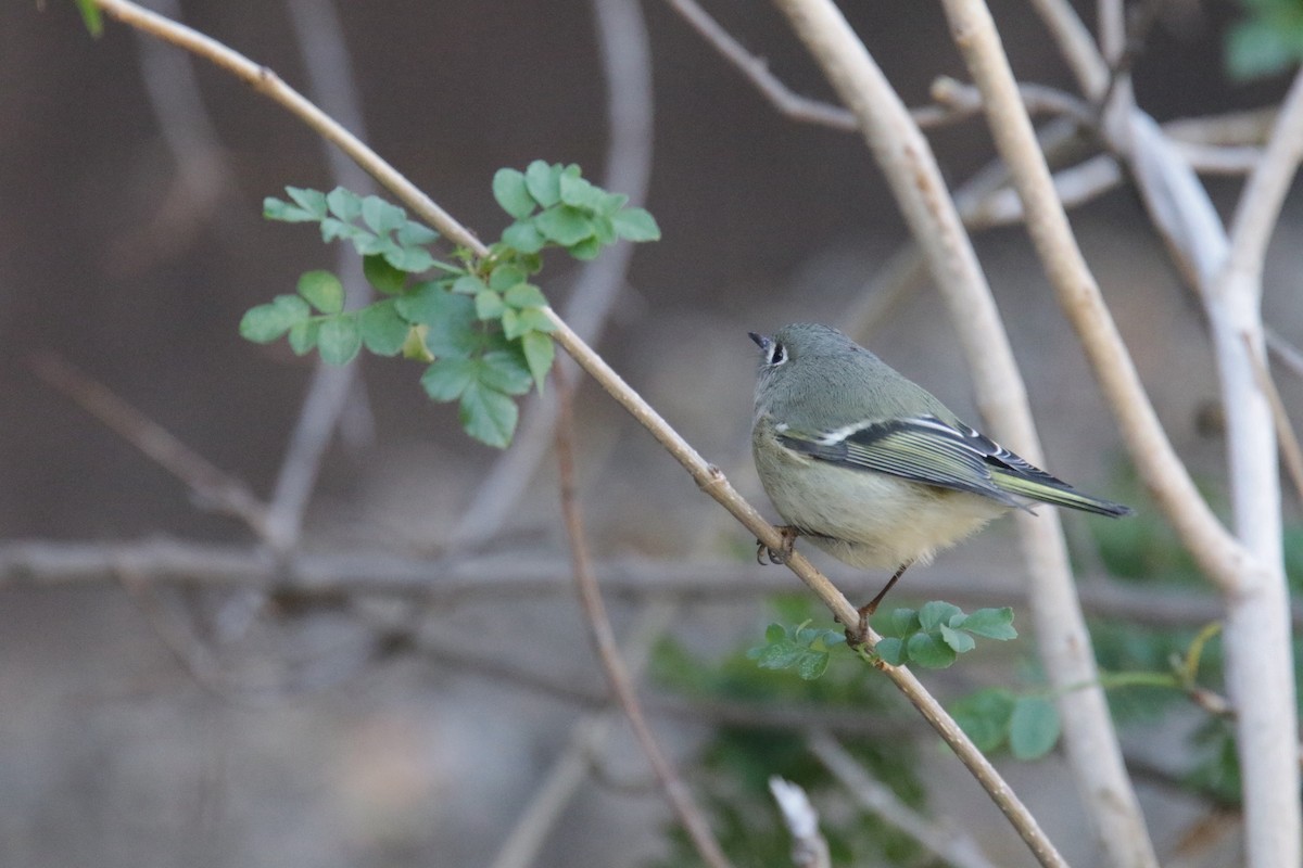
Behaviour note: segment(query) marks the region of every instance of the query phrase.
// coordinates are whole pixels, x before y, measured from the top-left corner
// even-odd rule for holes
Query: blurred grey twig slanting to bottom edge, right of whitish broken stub
[[[981,848],[968,835],[919,815],[891,791],[876,781],[842,744],[826,731],[810,733],[807,738],[810,752],[823,764],[842,786],[851,791],[865,811],[877,815],[900,832],[917,841],[929,852],[955,868],[993,868]]]

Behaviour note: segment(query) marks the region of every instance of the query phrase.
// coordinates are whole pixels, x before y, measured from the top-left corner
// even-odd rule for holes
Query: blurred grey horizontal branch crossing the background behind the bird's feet
[[[551,552],[513,556],[450,556],[440,560],[397,556],[386,549],[348,553],[292,553],[272,557],[265,548],[211,545],[155,539],[139,543],[9,541],[0,544],[0,588],[59,587],[113,580],[130,567],[134,580],[193,588],[251,588],[296,597],[337,600],[343,596],[399,597],[457,605],[476,600],[533,600],[573,591],[569,565]],[[614,558],[594,561],[593,571],[607,593],[631,600],[745,601],[791,590],[786,574],[721,560],[661,561]],[[834,578],[855,582],[851,570]],[[1020,605],[1023,583],[993,583],[963,571],[923,570],[912,574],[917,599],[946,599],[963,605]],[[1087,576],[1081,605],[1092,616],[1151,627],[1190,627],[1216,621],[1216,597],[1182,588],[1151,590]],[[1303,603],[1291,608],[1303,626]]]

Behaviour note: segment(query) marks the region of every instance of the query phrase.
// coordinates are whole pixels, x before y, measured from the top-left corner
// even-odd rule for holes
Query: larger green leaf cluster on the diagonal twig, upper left
[[[347,310],[339,277],[310,271],[294,294],[249,310],[240,333],[258,344],[288,337],[294,353],[315,349],[328,364],[347,364],[362,349],[423,362],[426,394],[456,401],[468,435],[506,446],[519,419],[516,398],[543,388],[556,353],[555,320],[533,282],[541,252],[558,247],[592,259],[620,238],[659,238],[659,229],[646,211],[627,207],[627,197],[584,180],[577,165],[539,160],[525,172],[502,169],[493,189],[515,223],[487,255],[456,249],[452,262],[430,252],[435,230],[379,197],[343,187],[285,187],[288,200],[268,197],[268,220],[317,223],[323,241],[352,243],[379,298]]]

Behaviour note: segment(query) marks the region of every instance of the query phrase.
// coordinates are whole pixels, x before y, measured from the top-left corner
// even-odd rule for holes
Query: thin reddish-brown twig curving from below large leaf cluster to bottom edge
[[[638,703],[637,692],[633,690],[628,668],[625,666],[619,644],[615,642],[615,631],[611,619],[606,613],[606,604],[602,601],[602,591],[593,575],[593,569],[588,556],[588,543],[584,537],[584,518],[579,505],[579,491],[575,472],[575,423],[571,409],[571,394],[568,384],[563,376],[556,376],[556,397],[560,405],[560,415],[556,420],[556,461],[560,470],[560,501],[562,515],[566,519],[566,534],[569,536],[571,560],[575,567],[575,587],[579,592],[580,604],[584,609],[589,636],[597,651],[602,669],[606,671],[607,682],[615,700],[619,703],[624,716],[629,718],[642,752],[646,753],[648,763],[655,773],[657,781],[665,793],[670,807],[674,809],[679,822],[692,839],[697,852],[715,868],[727,868],[728,858],[719,848],[710,832],[710,824],[697,807],[692,793],[679,778],[668,757],[661,751],[661,746],[648,726]]]

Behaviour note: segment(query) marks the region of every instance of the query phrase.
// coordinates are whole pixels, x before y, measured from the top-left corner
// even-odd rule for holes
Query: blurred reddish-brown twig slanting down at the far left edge
[[[244,481],[208,462],[64,358],[40,353],[31,358],[31,368],[150,461],[189,485],[201,504],[242,519],[254,534],[263,536],[266,509]]]

